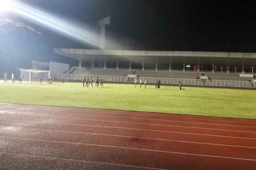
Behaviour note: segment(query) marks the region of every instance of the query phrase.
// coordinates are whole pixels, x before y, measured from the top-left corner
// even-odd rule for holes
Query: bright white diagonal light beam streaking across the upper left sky
[[[3,0],[0,0],[1,2]],[[43,26],[46,29],[59,33],[69,39],[99,47],[99,35],[97,30],[94,30],[81,23],[66,19],[56,14],[51,14],[48,11],[40,10],[32,6],[28,6],[18,1],[11,1],[8,5],[8,10],[17,15],[18,17],[25,18],[29,21]]]

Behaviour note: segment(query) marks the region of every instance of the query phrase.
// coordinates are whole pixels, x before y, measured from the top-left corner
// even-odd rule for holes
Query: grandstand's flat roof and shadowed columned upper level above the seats
[[[54,52],[79,62],[78,67],[139,70],[181,70],[252,73],[256,53],[127,51],[54,48]]]

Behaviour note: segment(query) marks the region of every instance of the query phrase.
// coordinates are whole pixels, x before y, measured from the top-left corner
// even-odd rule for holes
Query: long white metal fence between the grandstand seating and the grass
[[[82,82],[85,76],[92,77],[94,80],[99,77],[104,82],[134,82],[135,78],[127,76],[104,76],[104,75],[74,75],[74,74],[59,74],[56,76],[58,80],[62,80],[65,76],[67,81]],[[147,83],[155,83],[156,79],[161,81],[161,84],[179,84],[181,81],[184,85],[189,86],[212,86],[212,87],[234,87],[234,88],[256,88],[256,83],[251,81],[235,81],[235,80],[199,80],[199,79],[178,79],[178,78],[157,78],[157,77],[138,77],[137,81],[146,79]]]

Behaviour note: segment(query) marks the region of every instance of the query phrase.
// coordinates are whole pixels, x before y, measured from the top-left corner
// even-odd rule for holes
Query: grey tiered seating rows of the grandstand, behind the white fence
[[[182,72],[182,71],[143,71],[143,70],[127,70],[127,69],[99,69],[99,68],[72,68],[68,74],[75,75],[108,75],[108,76],[126,76],[137,75],[139,77],[154,77],[154,78],[179,78],[179,79],[199,79],[200,72]],[[235,74],[227,73],[212,73],[206,72],[205,76],[210,80],[237,80],[251,81],[248,77],[239,77]]]

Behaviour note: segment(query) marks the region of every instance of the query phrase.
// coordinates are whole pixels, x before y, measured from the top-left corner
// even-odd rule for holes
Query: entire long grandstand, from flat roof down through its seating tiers
[[[69,76],[69,79],[82,79],[84,75],[100,76],[102,78],[120,76],[122,81],[130,80],[127,77],[162,78],[162,82],[167,84],[171,82],[175,84],[178,79],[183,79],[184,82],[203,81],[204,83],[201,83],[201,85],[207,85],[210,82],[208,86],[214,86],[214,83],[211,83],[212,80],[224,80],[226,82],[223,84],[228,87],[237,87],[236,84],[241,84],[241,82],[235,81],[242,81],[242,84],[246,83],[246,87],[255,87],[253,72],[256,68],[256,53],[68,48],[54,48],[54,52],[77,61],[78,66],[62,72],[65,75],[72,75]],[[112,77],[105,79],[115,80]],[[149,82],[154,83],[154,80],[150,79]],[[119,81],[119,78],[115,81]],[[199,84],[197,83],[197,85]],[[222,83],[216,84],[216,86],[222,86]],[[238,87],[241,87],[241,85]],[[245,86],[242,85],[242,87]]]

